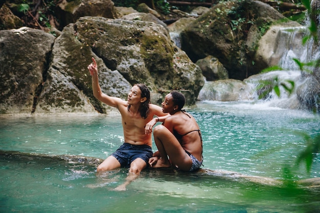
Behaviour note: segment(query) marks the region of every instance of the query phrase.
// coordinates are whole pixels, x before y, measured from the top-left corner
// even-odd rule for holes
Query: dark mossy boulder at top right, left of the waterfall
[[[223,2],[181,32],[181,49],[194,62],[212,55],[228,70],[229,78],[243,80],[268,67],[266,60],[256,57],[263,48],[259,46],[261,37],[273,24],[287,26],[289,22],[259,1]]]

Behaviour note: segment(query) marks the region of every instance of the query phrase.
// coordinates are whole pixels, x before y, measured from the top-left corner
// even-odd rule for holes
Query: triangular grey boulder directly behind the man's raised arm
[[[107,112],[108,107],[93,97],[92,80],[86,68],[92,62],[91,57],[99,65],[102,90],[109,96],[127,97],[130,84],[117,71],[108,69],[75,35],[74,25],[70,24],[56,39],[36,113]]]

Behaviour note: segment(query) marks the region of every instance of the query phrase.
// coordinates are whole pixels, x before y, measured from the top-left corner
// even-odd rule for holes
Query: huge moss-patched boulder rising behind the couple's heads
[[[168,31],[153,22],[82,17],[74,25],[78,39],[92,48],[110,70],[131,84],[145,83],[152,93],[172,89],[195,103],[204,84],[201,69],[170,40]],[[154,96],[155,97],[155,96]],[[163,96],[154,102],[161,103]]]

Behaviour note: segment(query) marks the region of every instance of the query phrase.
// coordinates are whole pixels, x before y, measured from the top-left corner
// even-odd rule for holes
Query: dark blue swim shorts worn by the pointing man
[[[130,164],[136,158],[143,159],[147,166],[149,165],[149,158],[152,157],[153,152],[148,145],[131,145],[124,143],[111,156],[115,157],[121,164],[121,167],[130,167]]]

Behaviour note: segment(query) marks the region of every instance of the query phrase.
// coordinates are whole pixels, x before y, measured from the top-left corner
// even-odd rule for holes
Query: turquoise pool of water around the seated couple
[[[188,111],[202,131],[203,170],[146,169],[124,192],[114,188],[128,169],[95,172],[95,159],[105,159],[124,142],[119,117],[1,118],[0,212],[320,209],[319,188],[284,184],[283,172],[289,168],[291,180],[320,177],[319,155],[310,173],[304,163],[294,167],[306,146],[301,133],[320,133],[319,115],[243,102],[202,102]],[[70,155],[78,160],[67,160]]]

